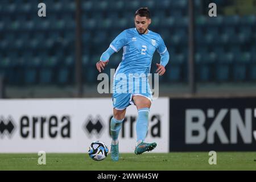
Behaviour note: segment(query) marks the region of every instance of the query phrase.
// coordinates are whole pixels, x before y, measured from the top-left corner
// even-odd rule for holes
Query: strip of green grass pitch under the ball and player
[[[217,164],[210,165],[208,152],[168,154],[121,154],[118,162],[110,156],[101,162],[88,154],[46,154],[46,165],[37,154],[0,154],[1,170],[256,170],[256,152],[217,152]]]

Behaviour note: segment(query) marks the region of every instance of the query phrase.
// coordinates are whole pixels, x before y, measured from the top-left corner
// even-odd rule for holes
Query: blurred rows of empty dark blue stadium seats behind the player
[[[8,76],[10,84],[72,84],[75,80],[76,2],[43,2],[47,5],[46,18],[37,16],[38,1],[1,0],[0,72]],[[211,18],[202,14],[201,0],[193,2],[196,11],[197,80],[256,81],[256,16],[224,16],[218,13],[217,17]],[[187,6],[187,0],[81,1],[85,81],[95,82],[96,61],[120,32],[134,27],[132,17],[139,7],[150,9],[150,30],[162,36],[170,52],[170,64],[167,67],[171,72],[161,79],[166,82],[185,81],[188,57]],[[95,13],[96,10],[100,10],[99,13]],[[118,22],[114,22],[115,19]],[[109,68],[117,68],[121,59],[122,50],[110,58]],[[109,71],[107,69],[105,72]],[[87,72],[89,76],[86,76]]]

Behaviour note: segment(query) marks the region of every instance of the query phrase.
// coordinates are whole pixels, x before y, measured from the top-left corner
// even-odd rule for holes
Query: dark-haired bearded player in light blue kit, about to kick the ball
[[[151,23],[150,11],[138,9],[134,15],[135,28],[124,30],[113,40],[109,48],[102,53],[96,67],[99,72],[109,62],[109,57],[123,48],[122,61],[113,78],[113,118],[110,122],[112,136],[111,158],[118,161],[118,134],[125,118],[126,107],[134,104],[138,110],[136,123],[137,143],[135,154],[151,151],[156,143],[145,143],[148,130],[148,113],[152,102],[152,93],[148,84],[147,74],[150,73],[152,56],[155,50],[160,54],[160,64],[156,64],[156,73],[160,76],[166,72],[164,68],[169,61],[169,53],[159,34],[148,30]],[[127,79],[123,78],[127,76]],[[132,76],[132,79],[129,79]],[[134,83],[134,78],[139,82]],[[128,86],[124,85],[127,84]],[[144,88],[144,89],[143,89]],[[123,92],[126,90],[127,92]],[[119,92],[118,92],[119,91]]]

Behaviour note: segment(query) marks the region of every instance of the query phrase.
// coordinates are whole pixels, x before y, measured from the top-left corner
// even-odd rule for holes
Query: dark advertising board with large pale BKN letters
[[[171,98],[170,151],[255,151],[256,98]]]

